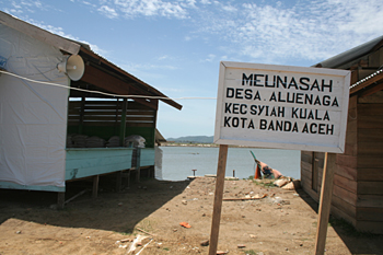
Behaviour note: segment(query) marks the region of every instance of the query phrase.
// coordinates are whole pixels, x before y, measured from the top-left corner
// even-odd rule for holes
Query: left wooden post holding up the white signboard
[[[214,206],[212,210],[212,221],[211,221],[211,232],[210,232],[209,255],[217,255],[218,234],[220,231],[220,222],[221,222],[224,174],[227,170],[227,159],[228,159],[228,146],[220,144],[220,150],[218,155],[217,179],[216,179]]]

